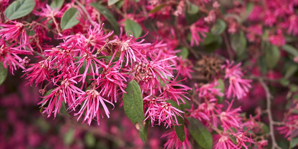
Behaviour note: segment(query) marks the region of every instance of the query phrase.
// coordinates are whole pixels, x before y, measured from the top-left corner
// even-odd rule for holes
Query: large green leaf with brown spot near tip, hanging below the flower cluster
[[[125,91],[127,94],[123,94],[123,108],[126,116],[136,126],[137,130],[144,133],[143,122],[145,120],[143,94],[139,84],[132,80],[126,86]]]

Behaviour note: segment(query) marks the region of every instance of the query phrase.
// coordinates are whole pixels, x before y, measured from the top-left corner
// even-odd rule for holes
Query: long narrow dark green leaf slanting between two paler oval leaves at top
[[[119,26],[116,18],[114,17],[114,15],[111,13],[111,11],[109,9],[105,8],[101,4],[91,3],[90,5],[93,8],[97,9],[99,11],[99,13],[102,14],[108,20],[108,22],[110,22],[110,24],[114,28],[115,34],[120,34],[120,26]]]

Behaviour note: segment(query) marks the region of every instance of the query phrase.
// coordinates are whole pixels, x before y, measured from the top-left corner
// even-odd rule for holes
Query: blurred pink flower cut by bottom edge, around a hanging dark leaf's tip
[[[190,145],[190,134],[189,130],[184,127],[184,132],[185,132],[185,139],[183,142],[179,140],[177,137],[177,134],[175,130],[169,130],[166,133],[164,133],[162,137],[167,136],[167,142],[164,144],[164,148],[170,149],[170,148],[175,148],[175,149],[188,149],[191,148]]]

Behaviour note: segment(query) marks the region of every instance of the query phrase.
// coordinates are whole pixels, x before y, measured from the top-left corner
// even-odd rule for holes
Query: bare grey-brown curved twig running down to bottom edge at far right
[[[266,85],[266,83],[264,82],[264,80],[262,78],[259,78],[259,82],[261,83],[261,85],[263,86],[264,90],[266,91],[266,102],[267,102],[267,114],[268,114],[268,119],[269,119],[269,128],[270,128],[270,136],[271,136],[271,140],[272,140],[272,149],[281,149],[276,141],[275,141],[275,136],[274,136],[274,129],[273,129],[273,125],[274,125],[274,121],[272,118],[272,113],[271,113],[271,93],[269,91],[268,86]]]

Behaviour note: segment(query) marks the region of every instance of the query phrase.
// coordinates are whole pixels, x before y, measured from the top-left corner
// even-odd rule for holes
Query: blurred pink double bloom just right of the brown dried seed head
[[[229,88],[226,92],[227,98],[237,97],[239,100],[243,97],[246,97],[247,93],[249,92],[249,88],[252,87],[250,85],[252,80],[241,78],[244,75],[240,68],[241,63],[238,63],[234,66],[234,61],[230,63],[229,60],[226,60],[226,63],[227,64],[221,66],[221,68],[225,68],[226,74],[224,78],[229,78]]]

